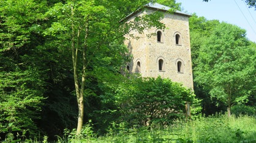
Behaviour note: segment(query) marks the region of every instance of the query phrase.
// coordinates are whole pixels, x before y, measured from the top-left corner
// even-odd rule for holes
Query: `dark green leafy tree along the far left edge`
[[[37,46],[47,2],[0,1],[0,133],[35,136],[45,92],[46,66]]]

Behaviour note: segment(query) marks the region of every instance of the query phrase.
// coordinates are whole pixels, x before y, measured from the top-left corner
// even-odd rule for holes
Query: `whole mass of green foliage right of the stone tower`
[[[244,30],[239,29],[239,27],[235,28],[235,26],[231,26],[231,25],[228,26],[229,24],[227,24],[225,28],[223,29],[219,28],[222,26],[224,27],[225,24],[224,23],[220,24],[219,21],[217,20],[209,21],[204,17],[198,17],[197,15],[193,14],[192,17],[190,17],[189,19],[189,23],[190,23],[190,39],[191,39],[190,41],[191,41],[191,51],[192,51],[192,68],[194,71],[193,76],[195,79],[194,90],[197,97],[199,99],[203,99],[201,102],[203,106],[203,113],[205,113],[206,115],[209,115],[209,114],[214,114],[216,112],[226,110],[227,94],[225,96],[225,94],[223,94],[222,92],[223,89],[217,88],[217,86],[220,86],[220,84],[217,83],[218,84],[217,86],[214,85],[213,80],[219,79],[219,82],[221,82],[220,80],[222,80],[222,82],[224,81],[228,82],[228,80],[230,80],[230,82],[232,82],[231,79],[226,78],[228,77],[227,75],[229,75],[228,78],[233,78],[234,82],[233,82],[233,85],[231,85],[233,86],[233,88],[235,88],[235,86],[239,86],[239,88],[236,87],[236,90],[240,90],[240,91],[243,90],[241,91],[243,93],[239,93],[239,95],[241,95],[242,97],[239,97],[237,100],[233,99],[233,101],[243,102],[244,100],[244,102],[247,102],[247,105],[254,106],[255,86],[254,84],[251,84],[251,83],[255,81],[255,78],[253,77],[254,75],[252,74],[253,72],[250,70],[255,69],[254,68],[255,52],[251,50],[251,49],[255,49],[255,43],[251,41],[247,41],[245,38]],[[216,34],[217,29],[219,29],[217,33],[220,33],[220,34],[214,36]],[[232,30],[232,29],[237,29],[237,30]],[[235,31],[235,32],[232,32],[232,31]],[[206,45],[206,43],[208,44]],[[237,49],[237,51],[234,50],[233,48]],[[208,49],[208,51],[205,51],[205,49]],[[232,50],[232,52],[230,52],[229,50]],[[234,55],[235,51],[237,53],[236,55]],[[213,57],[211,57],[210,55],[213,55]],[[214,57],[214,55],[216,55],[216,57]],[[203,56],[205,57],[202,58]],[[217,58],[219,57],[222,57],[222,58],[217,60]],[[225,57],[226,58],[229,57],[229,59],[226,59],[228,62],[224,60]],[[238,60],[235,60],[235,58],[231,58],[231,57],[237,57]],[[199,60],[200,58],[202,59]],[[211,60],[211,63],[207,63],[206,62],[207,59]],[[244,59],[246,61],[242,61],[241,59]],[[247,63],[244,63],[244,62],[247,62]],[[218,64],[220,65],[214,66]],[[204,67],[199,67],[200,65]],[[212,66],[207,67],[206,65],[212,65]],[[222,68],[220,68],[221,66]],[[220,75],[219,77],[217,76],[216,71],[214,71],[214,69],[216,69],[216,71],[219,71],[219,75]],[[205,71],[212,71],[212,72],[211,73],[209,72],[209,74],[206,75]],[[230,74],[229,71],[232,73]],[[238,71],[241,71],[241,72],[238,72]],[[249,71],[251,74],[246,73]],[[227,75],[224,75],[224,73]],[[199,80],[198,80],[198,75],[200,76]],[[213,77],[213,75],[216,78],[211,78]],[[252,75],[252,77],[249,77],[248,75]],[[209,77],[209,79],[205,77]],[[241,82],[240,84],[239,82],[240,80],[235,80],[235,77],[247,78],[246,82],[250,81],[251,83]],[[202,83],[207,83],[210,86],[203,85]],[[247,85],[249,85],[250,88]],[[211,94],[210,94],[210,91],[211,91]],[[217,92],[219,92],[219,94],[222,94],[222,102],[220,102],[219,100],[220,96],[213,96],[214,92],[215,94],[217,94]],[[235,103],[233,101],[232,103]]]

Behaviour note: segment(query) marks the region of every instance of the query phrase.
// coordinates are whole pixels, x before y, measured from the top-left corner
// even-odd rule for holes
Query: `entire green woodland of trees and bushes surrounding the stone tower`
[[[0,141],[10,134],[55,140],[88,122],[99,135],[113,124],[166,125],[185,119],[186,101],[192,119],[226,111],[255,116],[256,43],[233,24],[190,17],[194,91],[124,73],[124,35],[164,28],[160,13],[126,23],[148,2],[0,1]],[[157,2],[180,10],[175,1]]]

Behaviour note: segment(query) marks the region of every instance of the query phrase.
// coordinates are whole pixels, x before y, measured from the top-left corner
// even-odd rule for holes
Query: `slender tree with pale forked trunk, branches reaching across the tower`
[[[47,12],[46,16],[53,18],[53,23],[45,35],[61,41],[59,48],[72,51],[73,77],[78,103],[77,133],[80,133],[83,125],[85,88],[86,83],[90,81],[88,77],[91,71],[99,69],[97,67],[99,63],[113,62],[115,57],[119,57],[118,63],[124,61],[121,60],[126,57],[123,40],[124,35],[130,30],[137,29],[138,32],[143,32],[146,27],[161,28],[162,24],[158,23],[161,17],[159,13],[145,15],[131,23],[126,23],[126,16],[140,9],[147,2],[73,0],[55,4]]]

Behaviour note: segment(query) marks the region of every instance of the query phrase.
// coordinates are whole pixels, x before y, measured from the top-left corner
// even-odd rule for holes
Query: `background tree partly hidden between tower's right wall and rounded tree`
[[[200,49],[208,40],[211,33],[216,26],[220,23],[217,20],[207,20],[203,16],[197,16],[195,13],[189,18],[189,29],[190,29],[190,46],[191,46],[191,57],[192,57],[192,69],[195,71],[195,67],[198,65],[198,55]],[[197,75],[193,72],[193,77]],[[201,99],[201,106],[203,106],[202,113],[206,116],[225,110],[222,104],[216,106],[216,99],[209,96],[209,90],[203,89],[203,86],[199,85],[194,80],[194,92],[198,99]]]

